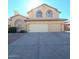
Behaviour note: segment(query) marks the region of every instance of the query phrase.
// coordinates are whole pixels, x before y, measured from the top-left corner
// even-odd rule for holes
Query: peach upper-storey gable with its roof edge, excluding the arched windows
[[[43,17],[41,18],[49,18],[46,16],[46,12],[47,11],[51,11],[51,13],[53,14],[53,17],[51,18],[59,18],[59,13],[60,11],[58,11],[56,8],[53,8],[51,6],[48,6],[46,4],[42,4],[34,9],[32,9],[31,11],[28,12],[28,15],[30,18],[37,18],[37,11],[41,11],[42,12],[42,15]]]

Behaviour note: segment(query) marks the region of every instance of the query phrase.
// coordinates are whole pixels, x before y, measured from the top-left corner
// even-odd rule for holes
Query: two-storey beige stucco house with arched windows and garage
[[[18,31],[27,32],[63,32],[64,21],[59,18],[60,11],[47,4],[42,4],[28,12],[29,17],[15,13],[10,19],[11,26],[17,27]]]

